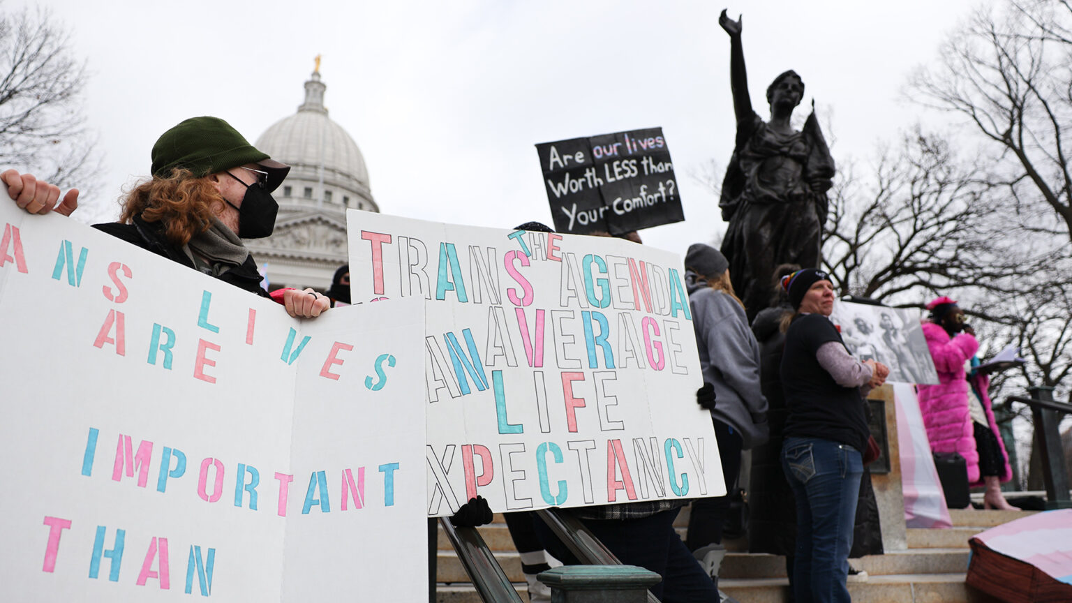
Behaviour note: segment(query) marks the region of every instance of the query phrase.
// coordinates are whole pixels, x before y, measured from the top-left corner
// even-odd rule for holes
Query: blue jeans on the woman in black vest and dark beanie
[[[845,578],[864,471],[860,451],[819,438],[786,438],[781,470],[796,499],[796,603],[851,601]]]

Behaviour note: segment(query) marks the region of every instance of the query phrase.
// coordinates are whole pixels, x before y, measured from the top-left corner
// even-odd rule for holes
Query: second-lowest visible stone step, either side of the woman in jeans
[[[867,555],[849,562],[873,576],[893,574],[954,574],[968,571],[967,548],[921,548]],[[728,553],[719,575],[730,579],[786,577],[786,558],[779,555]]]

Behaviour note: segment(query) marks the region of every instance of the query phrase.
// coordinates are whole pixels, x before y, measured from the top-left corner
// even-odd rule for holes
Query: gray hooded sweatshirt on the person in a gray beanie
[[[762,444],[769,436],[766,398],[759,385],[759,343],[744,308],[691,270],[685,284],[703,380],[715,387],[711,415],[741,433],[744,450]]]

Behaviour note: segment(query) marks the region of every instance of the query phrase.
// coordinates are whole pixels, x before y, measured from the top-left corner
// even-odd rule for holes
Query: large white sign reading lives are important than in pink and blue
[[[427,597],[419,302],[294,320],[3,190],[0,230],[5,601]]]

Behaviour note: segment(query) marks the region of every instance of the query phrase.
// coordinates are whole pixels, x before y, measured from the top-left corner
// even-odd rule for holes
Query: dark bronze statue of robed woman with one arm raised
[[[815,117],[815,101],[802,131],[789,124],[804,95],[804,82],[794,71],[775,77],[766,89],[771,120],[756,115],[744,69],[741,18],[733,20],[723,11],[718,25],[730,35],[736,115],[736,142],[718,203],[723,220],[729,222],[721,251],[750,321],[771,305],[777,265],[819,267],[834,160]]]

